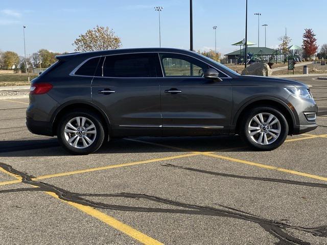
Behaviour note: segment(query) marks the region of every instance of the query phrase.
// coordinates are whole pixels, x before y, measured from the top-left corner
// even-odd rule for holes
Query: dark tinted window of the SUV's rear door
[[[104,77],[140,78],[156,77],[152,54],[128,54],[106,56],[103,64]]]

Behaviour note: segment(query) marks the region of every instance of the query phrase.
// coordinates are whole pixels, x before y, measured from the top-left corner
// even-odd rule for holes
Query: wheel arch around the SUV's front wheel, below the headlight
[[[292,134],[295,126],[298,124],[298,118],[295,116],[296,113],[293,112],[292,105],[286,104],[284,101],[279,100],[275,97],[258,97],[253,100],[245,103],[236,113],[232,125],[235,125],[235,132],[238,133],[240,129],[240,124],[242,118],[246,111],[251,108],[259,107],[259,106],[272,106],[279,109],[283,115],[285,116],[288,126],[289,126],[289,134]],[[294,107],[293,107],[294,108]],[[295,109],[294,109],[295,110]]]

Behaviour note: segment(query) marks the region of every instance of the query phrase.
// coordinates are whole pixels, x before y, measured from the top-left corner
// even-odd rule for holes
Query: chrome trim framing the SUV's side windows
[[[196,78],[196,79],[198,79],[198,78],[201,78],[201,77],[178,77],[178,76],[176,76],[176,77],[165,77],[164,76],[164,70],[163,70],[163,68],[162,68],[162,64],[161,64],[161,60],[160,60],[160,56],[159,56],[159,54],[160,53],[164,53],[164,54],[177,54],[177,55],[185,55],[185,56],[189,56],[189,57],[191,57],[191,58],[194,58],[194,59],[197,59],[197,60],[199,60],[199,61],[201,61],[201,62],[203,62],[203,63],[205,63],[205,64],[207,64],[209,67],[212,67],[213,69],[215,69],[215,70],[217,70],[218,72],[221,72],[222,74],[224,74],[224,75],[226,75],[227,76],[227,78],[221,78],[221,79],[232,79],[229,75],[227,75],[227,74],[225,74],[225,72],[223,72],[223,71],[221,71],[220,69],[218,69],[218,68],[216,68],[216,67],[213,67],[211,64],[209,64],[209,63],[207,63],[207,62],[205,62],[205,61],[203,61],[203,60],[201,60],[201,59],[198,59],[198,58],[196,58],[196,57],[193,57],[193,56],[191,56],[191,55],[186,55],[186,54],[182,54],[182,53],[177,53],[177,52],[169,52],[169,51],[165,51],[165,52],[154,52],[154,51],[151,51],[151,52],[132,52],[132,53],[123,53],[123,54],[112,54],[112,55],[99,55],[99,56],[94,56],[94,57],[90,57],[90,58],[87,58],[86,60],[84,60],[81,64],[79,64],[75,69],[73,69],[72,71],[71,71],[71,73],[69,73],[69,76],[75,76],[75,77],[87,77],[87,78],[115,78],[115,79],[128,79],[128,78],[131,78],[131,79],[135,79],[135,78],[140,78],[140,79],[145,79],[145,78],[150,78],[150,79],[153,79],[153,78]],[[98,77],[98,76],[85,76],[85,75],[76,75],[75,74],[75,72],[85,63],[85,62],[87,62],[88,60],[90,60],[90,59],[93,59],[93,58],[101,58],[101,57],[107,57],[107,56],[113,56],[113,55],[131,55],[131,54],[158,54],[158,56],[159,56],[159,62],[160,62],[160,66],[161,66],[161,72],[162,72],[162,77],[127,77],[127,78],[125,78],[125,77],[103,77],[103,64],[102,64],[102,77]],[[104,59],[104,61],[105,61],[105,59]],[[104,62],[103,61],[103,62]]]

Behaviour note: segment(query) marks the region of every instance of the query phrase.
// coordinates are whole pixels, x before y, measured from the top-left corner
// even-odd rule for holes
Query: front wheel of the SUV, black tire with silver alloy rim
[[[284,143],[288,130],[285,116],[278,109],[267,106],[252,108],[244,115],[240,134],[251,148],[271,151]]]

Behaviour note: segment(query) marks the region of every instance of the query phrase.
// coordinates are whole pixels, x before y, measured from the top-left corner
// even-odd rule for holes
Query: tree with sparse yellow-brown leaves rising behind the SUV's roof
[[[122,46],[120,37],[116,36],[109,27],[99,27],[89,29],[72,44],[76,52],[114,50]]]

